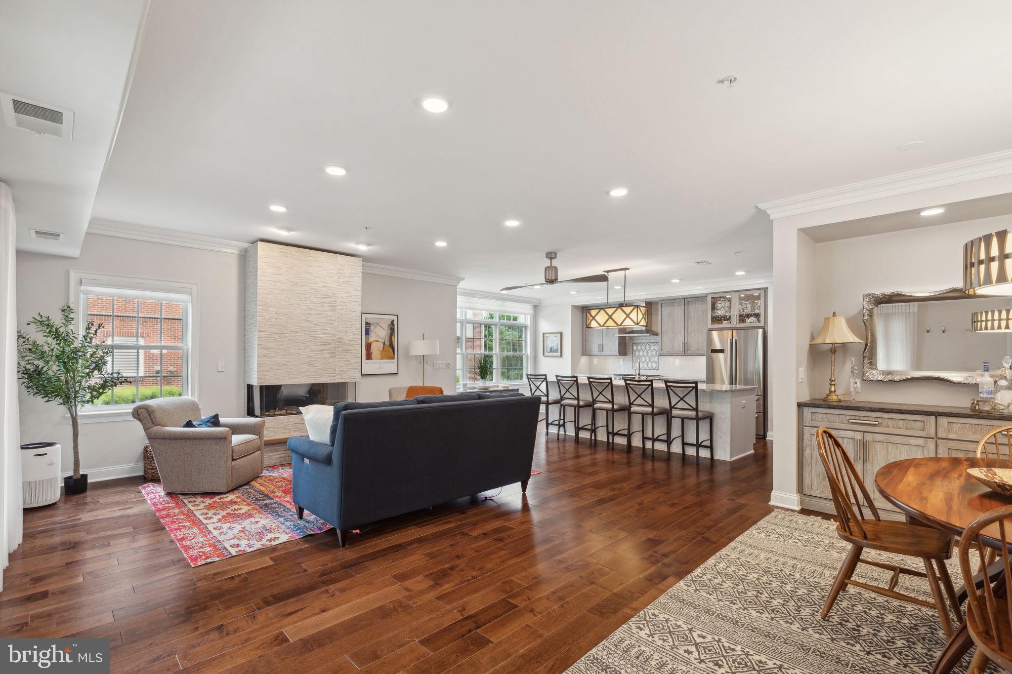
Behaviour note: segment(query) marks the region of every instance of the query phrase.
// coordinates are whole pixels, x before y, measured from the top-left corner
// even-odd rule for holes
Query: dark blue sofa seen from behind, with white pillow
[[[345,533],[519,482],[527,490],[540,398],[461,393],[334,405],[330,445],[291,438],[291,495]]]

